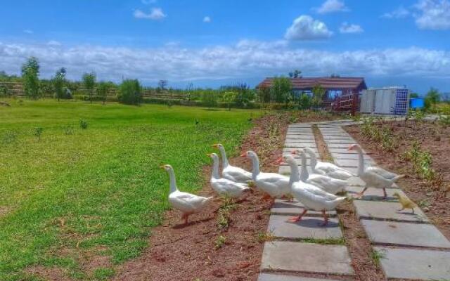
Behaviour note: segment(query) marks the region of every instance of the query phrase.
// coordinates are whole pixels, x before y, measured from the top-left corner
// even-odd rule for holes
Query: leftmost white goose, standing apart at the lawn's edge
[[[184,223],[188,223],[188,217],[191,214],[200,212],[209,202],[212,197],[201,197],[198,195],[193,195],[188,192],[179,191],[176,186],[176,179],[174,169],[170,165],[162,165],[162,169],[167,171],[169,174],[170,181],[170,192],[169,192],[169,203],[183,213],[181,218],[184,218]]]

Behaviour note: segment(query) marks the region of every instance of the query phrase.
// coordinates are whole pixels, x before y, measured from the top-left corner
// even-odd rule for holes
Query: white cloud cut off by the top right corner
[[[416,25],[422,30],[450,29],[450,1],[449,0],[420,0],[414,6],[419,14]]]

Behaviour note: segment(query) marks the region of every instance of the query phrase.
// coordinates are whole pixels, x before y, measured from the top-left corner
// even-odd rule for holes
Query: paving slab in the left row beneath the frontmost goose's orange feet
[[[304,216],[302,221],[297,223],[287,222],[289,216],[272,214],[269,219],[267,231],[275,237],[288,239],[340,239],[342,231],[339,227],[338,218],[329,218],[327,226],[320,226],[323,218]]]

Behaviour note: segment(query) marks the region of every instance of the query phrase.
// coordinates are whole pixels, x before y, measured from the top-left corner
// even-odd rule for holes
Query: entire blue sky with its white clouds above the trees
[[[5,2],[0,70],[11,74],[35,55],[45,78],[66,67],[71,79],[255,85],[300,69],[450,91],[450,0]]]

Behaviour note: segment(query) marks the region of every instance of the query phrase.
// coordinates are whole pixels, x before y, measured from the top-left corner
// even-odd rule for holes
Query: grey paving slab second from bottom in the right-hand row
[[[430,224],[371,220],[361,220],[361,223],[375,244],[450,248],[449,240]]]

